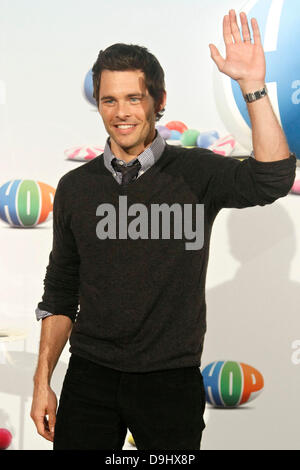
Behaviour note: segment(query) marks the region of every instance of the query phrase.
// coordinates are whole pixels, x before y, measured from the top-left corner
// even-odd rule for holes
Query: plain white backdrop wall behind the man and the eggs
[[[67,161],[65,149],[105,143],[101,118],[82,87],[99,50],[116,42],[144,45],[161,62],[168,92],[161,124],[181,120],[225,135],[208,44],[220,43],[223,15],[243,4],[0,0],[0,186],[19,178],[55,188],[82,164]],[[293,349],[300,340],[299,204],[290,194],[264,208],[223,210],[215,222],[202,365],[245,362],[263,374],[265,388],[237,409],[208,406],[203,449],[300,448],[300,354]],[[0,428],[11,430],[11,449],[52,447],[30,418],[41,327],[34,310],[51,244],[51,221],[15,229],[0,220],[0,329],[27,331],[25,340],[0,350]],[[66,347],[52,380],[58,395],[68,357]]]

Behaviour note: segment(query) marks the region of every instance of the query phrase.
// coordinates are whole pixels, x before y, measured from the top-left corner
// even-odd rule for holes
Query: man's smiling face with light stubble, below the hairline
[[[151,144],[156,111],[141,70],[103,70],[99,112],[117,157],[137,156]]]

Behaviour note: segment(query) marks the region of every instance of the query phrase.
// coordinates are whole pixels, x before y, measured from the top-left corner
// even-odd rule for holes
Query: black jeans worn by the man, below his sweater
[[[205,392],[198,367],[132,373],[70,357],[54,450],[199,450]]]

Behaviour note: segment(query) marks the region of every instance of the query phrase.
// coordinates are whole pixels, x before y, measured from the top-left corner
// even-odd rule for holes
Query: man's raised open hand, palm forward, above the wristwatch
[[[238,81],[244,92],[255,91],[262,88],[265,83],[266,62],[261,44],[260,32],[255,18],[251,19],[253,42],[247,15],[240,13],[242,34],[237,24],[236,13],[229,11],[223,19],[223,38],[226,46],[224,59],[217,47],[210,44],[213,61],[220,72]]]

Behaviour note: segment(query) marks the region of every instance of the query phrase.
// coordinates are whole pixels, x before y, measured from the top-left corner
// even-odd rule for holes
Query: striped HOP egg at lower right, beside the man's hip
[[[262,374],[236,361],[215,361],[202,371],[206,401],[215,407],[237,407],[256,398],[264,387]]]

